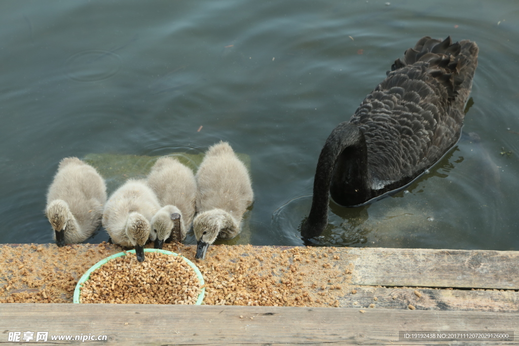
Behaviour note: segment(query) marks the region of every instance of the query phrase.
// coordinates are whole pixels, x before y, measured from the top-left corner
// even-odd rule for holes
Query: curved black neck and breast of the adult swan
[[[329,192],[335,202],[345,206],[361,204],[371,196],[366,140],[359,128],[349,122],[340,123],[321,150],[310,214],[301,229],[303,237],[319,236],[326,227]]]

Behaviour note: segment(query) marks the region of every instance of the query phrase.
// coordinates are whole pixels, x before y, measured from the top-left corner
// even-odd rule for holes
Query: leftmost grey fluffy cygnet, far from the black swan
[[[106,202],[104,179],[77,157],[61,160],[47,193],[45,215],[58,246],[81,243],[101,224]]]

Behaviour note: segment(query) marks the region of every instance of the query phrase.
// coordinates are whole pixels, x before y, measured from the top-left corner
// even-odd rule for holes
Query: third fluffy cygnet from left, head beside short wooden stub
[[[168,238],[183,241],[195,215],[197,189],[193,171],[174,157],[161,157],[149,172],[147,182],[162,206],[152,218],[150,238],[155,248],[162,248]],[[175,217],[179,216],[180,229],[176,229]]]

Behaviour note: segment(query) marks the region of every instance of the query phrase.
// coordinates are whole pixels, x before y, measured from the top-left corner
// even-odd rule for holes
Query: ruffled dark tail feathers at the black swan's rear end
[[[462,108],[472,87],[477,51],[477,45],[469,40],[453,43],[450,36],[443,41],[425,36],[414,48],[407,49],[403,58],[395,60],[391,71],[428,63],[424,66],[428,74],[445,87],[448,99],[460,103]]]

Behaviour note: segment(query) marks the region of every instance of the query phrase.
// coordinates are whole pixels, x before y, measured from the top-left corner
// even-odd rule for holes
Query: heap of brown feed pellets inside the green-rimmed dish
[[[82,303],[195,304],[201,293],[195,270],[182,256],[146,253],[116,257],[90,273],[81,288]]]

